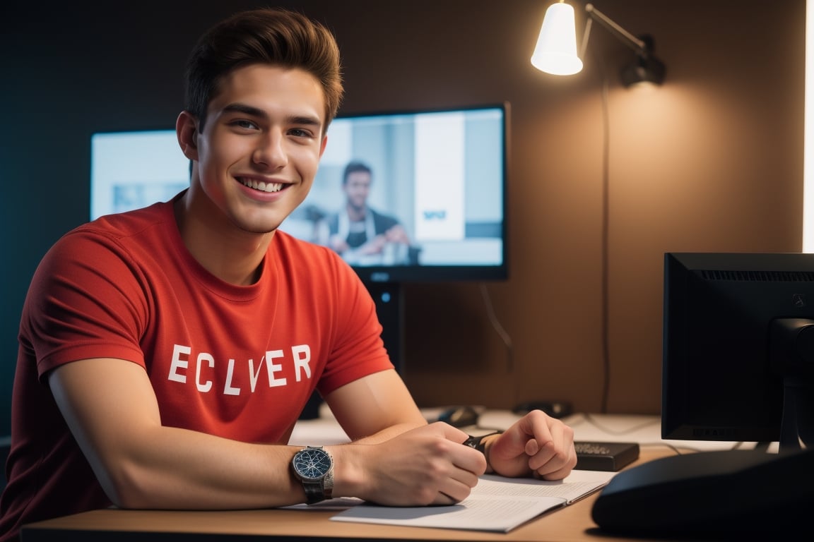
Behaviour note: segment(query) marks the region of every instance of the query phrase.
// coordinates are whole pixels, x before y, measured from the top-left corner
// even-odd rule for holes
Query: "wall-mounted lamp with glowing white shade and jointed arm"
[[[570,76],[582,70],[582,60],[588,38],[591,33],[591,24],[594,20],[607,28],[610,33],[630,47],[636,54],[631,63],[625,65],[620,75],[624,86],[650,83],[661,85],[664,80],[664,64],[653,56],[653,38],[650,36],[636,37],[620,27],[607,15],[593,7],[585,5],[588,18],[585,22],[585,31],[582,37],[580,54],[576,54],[576,30],[574,22],[574,8],[562,2],[552,4],[545,11],[540,37],[532,54],[532,65],[541,72],[555,76]]]

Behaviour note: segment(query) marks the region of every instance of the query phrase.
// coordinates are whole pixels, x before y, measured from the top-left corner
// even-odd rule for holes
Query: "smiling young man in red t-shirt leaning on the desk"
[[[0,540],[110,505],[449,505],[488,468],[566,476],[573,432],[540,411],[481,443],[489,466],[462,431],[428,425],[357,275],[277,231],[342,96],[330,33],[287,11],[234,15],[199,41],[187,85],[189,189],[69,232],[33,277]],[[314,389],[352,443],[287,445]]]

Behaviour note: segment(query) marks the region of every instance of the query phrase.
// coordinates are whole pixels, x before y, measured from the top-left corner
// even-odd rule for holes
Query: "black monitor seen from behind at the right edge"
[[[667,253],[662,436],[814,444],[814,254]]]

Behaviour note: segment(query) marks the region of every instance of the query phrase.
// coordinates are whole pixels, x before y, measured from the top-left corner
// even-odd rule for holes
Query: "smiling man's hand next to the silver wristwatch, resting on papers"
[[[463,501],[486,470],[483,454],[461,445],[466,437],[446,423],[432,423],[379,444],[332,447],[334,494],[391,506]]]

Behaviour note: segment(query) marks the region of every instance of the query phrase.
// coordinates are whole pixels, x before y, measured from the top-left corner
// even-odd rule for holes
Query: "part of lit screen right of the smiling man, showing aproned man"
[[[340,116],[309,197],[282,224],[362,280],[501,280],[506,106]]]

